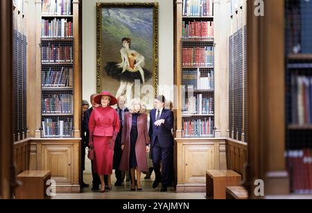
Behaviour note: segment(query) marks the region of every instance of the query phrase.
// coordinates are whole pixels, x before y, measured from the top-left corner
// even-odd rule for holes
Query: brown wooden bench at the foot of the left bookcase
[[[45,199],[49,198],[46,194],[46,181],[51,179],[50,171],[26,171],[17,176],[21,182],[21,187],[16,190],[17,199]]]

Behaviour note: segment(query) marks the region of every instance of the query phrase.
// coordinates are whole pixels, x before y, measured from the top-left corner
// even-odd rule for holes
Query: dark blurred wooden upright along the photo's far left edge
[[[0,198],[12,198],[12,1],[0,1]]]

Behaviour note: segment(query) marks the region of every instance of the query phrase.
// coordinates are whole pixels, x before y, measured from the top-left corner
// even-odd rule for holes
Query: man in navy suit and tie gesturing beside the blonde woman
[[[167,192],[174,145],[171,134],[174,115],[173,111],[164,109],[165,102],[164,95],[159,95],[156,109],[150,111],[150,143],[153,150],[153,164],[156,174],[153,188],[157,188],[159,183],[162,182],[161,192]],[[162,163],[162,172],[160,172],[160,163]]]

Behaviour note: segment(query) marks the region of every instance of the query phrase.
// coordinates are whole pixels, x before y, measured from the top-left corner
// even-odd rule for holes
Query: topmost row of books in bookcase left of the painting
[[[42,15],[71,15],[72,0],[42,0]]]

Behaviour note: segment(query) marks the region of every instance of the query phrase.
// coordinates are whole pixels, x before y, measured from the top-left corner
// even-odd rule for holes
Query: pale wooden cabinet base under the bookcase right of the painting
[[[207,169],[226,169],[224,138],[176,138],[177,192],[206,192]]]

